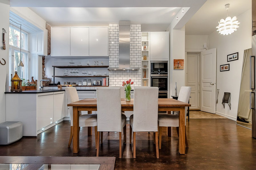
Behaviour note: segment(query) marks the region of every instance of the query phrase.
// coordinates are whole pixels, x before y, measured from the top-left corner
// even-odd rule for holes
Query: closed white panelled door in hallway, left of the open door
[[[191,93],[189,98],[189,109],[197,109],[197,58],[198,54],[187,54],[187,86],[191,87]]]

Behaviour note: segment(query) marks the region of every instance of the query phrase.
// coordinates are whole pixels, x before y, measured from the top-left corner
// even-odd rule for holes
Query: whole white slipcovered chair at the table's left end
[[[76,87],[66,87],[65,92],[68,97],[68,103],[73,103],[79,100]],[[70,137],[68,142],[68,148],[70,147],[70,144],[73,139],[73,107],[69,106],[69,113],[70,113]],[[96,148],[97,147],[97,114],[82,115],[81,111],[79,111],[79,130],[81,126],[85,126],[85,127],[94,126],[95,148]]]

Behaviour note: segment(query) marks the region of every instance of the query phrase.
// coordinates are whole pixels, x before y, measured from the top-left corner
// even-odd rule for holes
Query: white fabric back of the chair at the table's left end
[[[65,92],[68,98],[68,103],[79,101],[76,87],[66,87]],[[73,107],[72,106],[69,106],[69,114],[70,114],[70,125],[73,126]],[[79,115],[81,115],[81,111],[79,111]]]

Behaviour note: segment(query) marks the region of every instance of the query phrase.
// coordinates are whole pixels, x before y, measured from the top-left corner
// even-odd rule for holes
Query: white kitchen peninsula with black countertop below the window
[[[5,92],[6,121],[23,124],[23,136],[37,136],[67,117],[65,90]]]

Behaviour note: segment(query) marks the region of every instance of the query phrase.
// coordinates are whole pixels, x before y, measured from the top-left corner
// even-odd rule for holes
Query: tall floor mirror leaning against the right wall
[[[244,50],[239,103],[236,124],[252,129],[252,109],[250,109],[250,55],[252,48]]]

